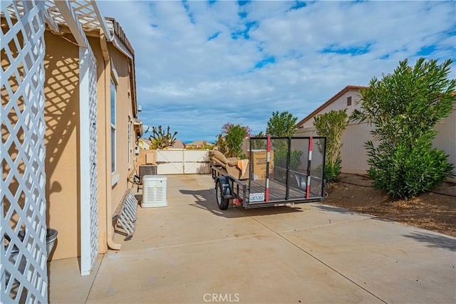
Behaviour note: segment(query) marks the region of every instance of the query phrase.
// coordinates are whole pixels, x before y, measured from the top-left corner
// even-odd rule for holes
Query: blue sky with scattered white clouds
[[[184,142],[215,142],[227,122],[264,132],[274,111],[299,121],[405,58],[456,60],[455,1],[97,4],[135,50],[140,120]]]

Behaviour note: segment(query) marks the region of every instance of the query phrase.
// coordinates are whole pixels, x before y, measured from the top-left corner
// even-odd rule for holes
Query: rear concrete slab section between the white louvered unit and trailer
[[[215,202],[215,191],[208,187],[213,184],[210,176],[170,176],[167,184],[167,206],[138,207],[138,220],[133,239],[123,241],[124,236],[115,235],[115,241],[123,244],[122,251],[217,241],[271,232],[239,209],[219,210]],[[192,189],[193,184],[195,189]],[[205,189],[201,189],[203,187]]]

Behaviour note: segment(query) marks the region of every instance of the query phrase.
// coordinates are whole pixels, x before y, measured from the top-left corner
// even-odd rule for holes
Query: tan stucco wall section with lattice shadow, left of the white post
[[[71,36],[66,36],[71,39]],[[78,47],[46,31],[46,224],[58,231],[52,258],[78,256]]]

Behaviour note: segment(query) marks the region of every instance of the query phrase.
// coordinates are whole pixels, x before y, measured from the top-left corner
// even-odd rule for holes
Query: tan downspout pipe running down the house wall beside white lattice
[[[110,69],[111,69],[111,63],[110,63],[110,58],[109,58],[109,52],[108,52],[108,44],[105,41],[105,36],[104,34],[100,34],[100,46],[101,46],[101,51],[103,53],[103,59],[105,63],[105,113],[104,117],[108,117],[110,115],[110,110],[108,107],[108,104],[110,103],[107,102],[107,97],[110,96]],[[109,120],[110,121],[110,120]],[[105,121],[104,124],[104,130],[105,130],[105,159],[109,159],[110,147],[111,142],[110,142],[110,136],[108,136],[108,131],[110,132],[110,129],[108,130],[108,127],[110,128],[110,125],[108,126],[108,119]],[[112,199],[111,199],[111,192],[110,192],[110,180],[111,180],[111,174],[108,169],[105,170],[105,180],[106,180],[106,242],[108,244],[108,248],[113,249],[113,250],[120,250],[120,247],[122,245],[120,243],[115,243],[113,240],[114,236],[114,227],[113,227],[113,218],[112,218]]]

